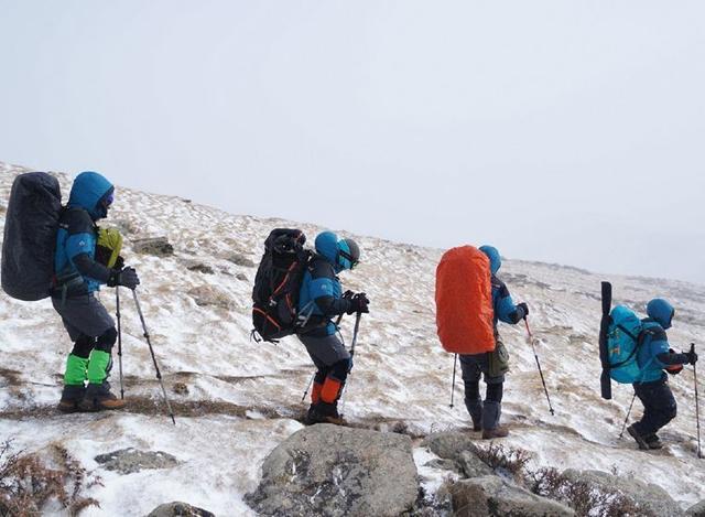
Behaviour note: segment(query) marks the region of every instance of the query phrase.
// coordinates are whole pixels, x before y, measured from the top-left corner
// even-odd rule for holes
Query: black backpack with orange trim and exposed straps
[[[252,289],[252,337],[276,343],[297,327],[299,291],[312,252],[299,229],[276,228],[264,241],[264,255]]]

